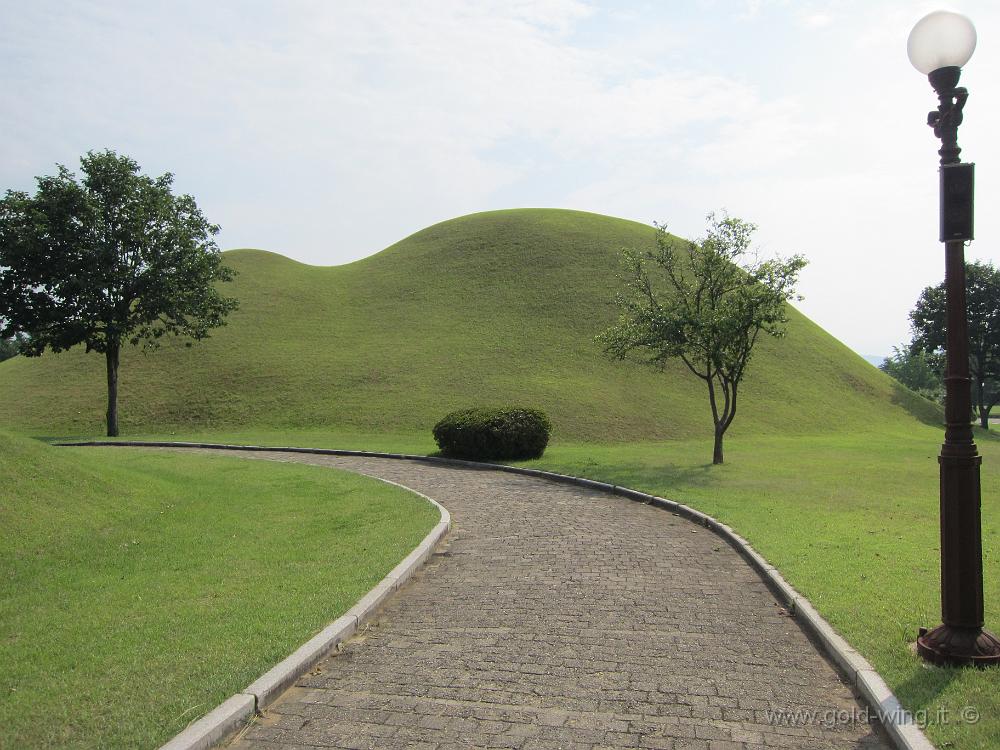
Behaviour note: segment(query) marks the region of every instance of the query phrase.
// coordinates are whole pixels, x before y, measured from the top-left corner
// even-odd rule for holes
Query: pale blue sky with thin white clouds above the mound
[[[800,310],[885,355],[944,276],[937,101],[906,56],[939,7],[979,34],[966,252],[996,265],[995,0],[0,0],[0,191],[111,148],[172,172],[222,249],[314,265],[478,211],[694,239],[725,210],[808,258]]]

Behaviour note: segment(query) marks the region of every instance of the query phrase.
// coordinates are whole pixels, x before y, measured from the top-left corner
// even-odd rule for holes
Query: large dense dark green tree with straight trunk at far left
[[[104,354],[114,437],[122,346],[205,338],[236,307],[215,288],[234,272],[212,239],[218,226],[191,196],[171,193],[173,175],[141,175],[114,151],[80,165],[82,182],[58,165],[33,197],[0,200],[0,336],[20,337],[29,357],[78,344]]]

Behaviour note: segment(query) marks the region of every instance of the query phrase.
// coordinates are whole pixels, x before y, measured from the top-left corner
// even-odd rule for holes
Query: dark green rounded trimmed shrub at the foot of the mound
[[[452,458],[509,461],[539,458],[551,430],[549,418],[538,409],[462,409],[434,425],[434,440]]]

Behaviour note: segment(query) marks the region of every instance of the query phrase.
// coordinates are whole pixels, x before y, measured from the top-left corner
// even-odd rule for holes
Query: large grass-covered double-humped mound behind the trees
[[[229,325],[187,347],[128,351],[123,434],[244,428],[429,430],[446,412],[516,403],[557,438],[704,435],[701,381],[609,361],[594,336],[614,321],[618,250],[652,246],[635,222],[562,210],[474,214],[344,266],[259,250],[226,253],[241,300]],[[0,423],[99,434],[104,362],[82,350],[0,363]],[[938,419],[793,311],[760,346],[734,432],[816,432]]]

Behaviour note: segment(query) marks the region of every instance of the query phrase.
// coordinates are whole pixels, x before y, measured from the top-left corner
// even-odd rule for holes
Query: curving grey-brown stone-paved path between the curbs
[[[885,747],[795,620],[704,528],[501,472],[257,457],[399,482],[447,507],[453,529],[234,747]]]

